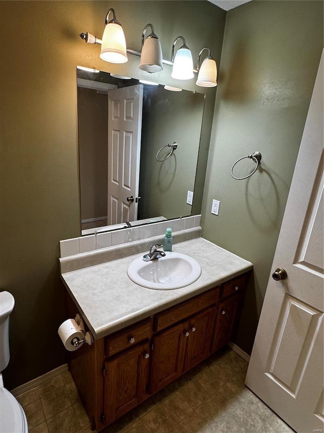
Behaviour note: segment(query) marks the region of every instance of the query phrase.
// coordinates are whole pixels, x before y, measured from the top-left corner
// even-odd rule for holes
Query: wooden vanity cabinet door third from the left
[[[211,353],[216,311],[217,308],[212,307],[190,319],[184,371],[191,369]]]

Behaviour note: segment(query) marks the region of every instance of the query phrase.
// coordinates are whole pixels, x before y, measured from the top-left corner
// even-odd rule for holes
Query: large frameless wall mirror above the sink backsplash
[[[191,215],[205,94],[76,71],[82,235]]]

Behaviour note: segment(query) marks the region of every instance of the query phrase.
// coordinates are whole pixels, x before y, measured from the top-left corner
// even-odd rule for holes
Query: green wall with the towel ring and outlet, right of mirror
[[[203,236],[254,264],[236,344],[250,352],[323,47],[323,2],[257,1],[227,13]],[[247,180],[232,164],[254,151]],[[254,163],[237,165],[245,176]],[[219,216],[210,213],[220,201]],[[280,263],[276,263],[277,267]]]

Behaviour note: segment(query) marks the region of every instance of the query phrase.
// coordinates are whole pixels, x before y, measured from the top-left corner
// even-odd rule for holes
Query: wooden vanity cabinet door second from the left
[[[188,325],[188,321],[180,323],[154,337],[150,385],[152,393],[182,374]]]

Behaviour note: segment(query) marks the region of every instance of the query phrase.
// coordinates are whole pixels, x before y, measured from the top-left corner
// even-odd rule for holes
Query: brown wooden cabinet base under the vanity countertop
[[[70,352],[69,369],[92,427],[106,427],[227,344],[247,279],[236,277]],[[68,298],[67,315],[74,317]]]

